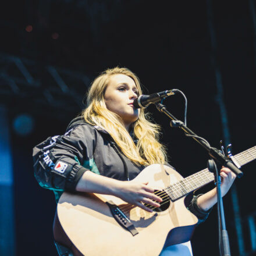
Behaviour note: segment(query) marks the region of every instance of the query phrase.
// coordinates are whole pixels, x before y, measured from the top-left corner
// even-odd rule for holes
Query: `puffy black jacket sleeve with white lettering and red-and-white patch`
[[[35,146],[34,172],[40,186],[54,191],[75,191],[87,170],[83,162],[93,158],[96,137],[94,127],[83,124]]]

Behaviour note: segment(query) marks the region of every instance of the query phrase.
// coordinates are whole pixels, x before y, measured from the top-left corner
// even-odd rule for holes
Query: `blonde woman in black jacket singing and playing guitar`
[[[101,73],[88,91],[87,108],[72,120],[66,133],[34,148],[40,186],[53,190],[57,201],[64,191],[81,191],[115,195],[148,212],[159,207],[162,198],[154,193],[156,188],[133,181],[146,166],[168,165],[165,147],[158,140],[160,127],[148,120],[144,109],[133,106],[140,94],[140,81],[129,69],[115,67]],[[221,176],[225,195],[236,176],[227,168],[221,169]],[[213,189],[194,196],[188,209],[200,223],[216,201]],[[57,215],[54,239],[59,255],[83,255],[66,236]],[[193,254],[187,241],[163,247],[159,255]]]

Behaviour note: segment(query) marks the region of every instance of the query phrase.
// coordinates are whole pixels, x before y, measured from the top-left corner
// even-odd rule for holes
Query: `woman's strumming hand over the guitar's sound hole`
[[[116,197],[121,198],[123,201],[136,205],[145,211],[152,212],[152,209],[146,207],[144,204],[149,204],[153,207],[160,207],[158,202],[162,202],[162,198],[155,195],[155,189],[147,186],[147,184],[148,182],[120,182],[114,194]]]

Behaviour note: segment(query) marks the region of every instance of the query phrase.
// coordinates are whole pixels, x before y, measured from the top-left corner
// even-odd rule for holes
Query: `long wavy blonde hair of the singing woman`
[[[113,74],[129,76],[134,80],[138,93],[142,94],[140,80],[129,69],[126,67],[107,69],[91,84],[87,93],[87,108],[82,112],[84,120],[108,131],[123,154],[136,165],[166,163],[168,161],[166,148],[158,141],[161,127],[150,122],[150,117],[144,113],[144,109],[141,109],[138,119],[131,125],[134,136],[138,139],[137,145],[135,145],[122,118],[106,108],[104,93],[108,79]]]

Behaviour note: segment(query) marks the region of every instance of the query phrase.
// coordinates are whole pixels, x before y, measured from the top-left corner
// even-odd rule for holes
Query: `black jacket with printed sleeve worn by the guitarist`
[[[108,132],[89,125],[81,117],[70,122],[64,135],[49,137],[35,146],[33,160],[35,178],[40,186],[54,191],[56,201],[63,191],[75,191],[86,170],[113,179],[132,180],[145,168],[126,158]],[[190,202],[189,209],[201,222],[208,212],[197,207],[197,197]]]

